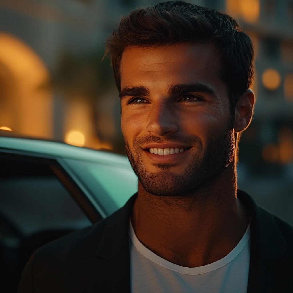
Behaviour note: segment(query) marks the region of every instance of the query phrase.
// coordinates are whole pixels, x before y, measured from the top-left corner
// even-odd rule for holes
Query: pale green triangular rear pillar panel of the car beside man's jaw
[[[130,165],[106,165],[75,159],[64,161],[90,189],[107,215],[125,205],[137,192],[137,176]]]

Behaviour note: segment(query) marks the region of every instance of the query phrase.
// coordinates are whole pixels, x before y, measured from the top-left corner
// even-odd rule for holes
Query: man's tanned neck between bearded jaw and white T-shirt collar
[[[139,183],[131,216],[135,234],[151,251],[181,266],[217,261],[239,243],[248,226],[236,188],[234,164],[182,197],[151,195]]]

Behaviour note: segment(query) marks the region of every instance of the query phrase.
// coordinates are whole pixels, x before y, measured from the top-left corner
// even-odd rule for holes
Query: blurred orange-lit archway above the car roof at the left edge
[[[36,137],[52,137],[49,73],[21,40],[0,33],[0,127]]]

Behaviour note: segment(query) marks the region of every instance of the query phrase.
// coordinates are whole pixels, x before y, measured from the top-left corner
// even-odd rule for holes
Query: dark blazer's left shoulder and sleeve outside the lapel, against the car
[[[38,248],[22,272],[18,292],[87,292],[86,260],[96,254],[106,222]]]

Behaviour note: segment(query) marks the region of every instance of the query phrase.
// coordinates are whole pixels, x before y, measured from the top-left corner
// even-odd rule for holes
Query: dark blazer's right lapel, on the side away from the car
[[[275,278],[275,263],[288,250],[287,243],[272,214],[258,207],[243,191],[239,190],[237,195],[251,215],[247,292],[279,292]]]

